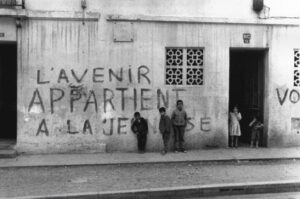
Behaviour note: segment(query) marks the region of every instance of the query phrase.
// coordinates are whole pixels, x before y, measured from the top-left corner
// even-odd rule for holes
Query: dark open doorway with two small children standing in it
[[[230,49],[229,108],[238,105],[242,114],[240,145],[249,146],[253,115],[264,122],[266,50]],[[230,110],[231,111],[231,110]],[[260,146],[266,146],[266,130],[261,132]]]

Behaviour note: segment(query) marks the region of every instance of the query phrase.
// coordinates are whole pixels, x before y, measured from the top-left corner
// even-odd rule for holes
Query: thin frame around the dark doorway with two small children
[[[253,48],[253,47],[229,47],[229,54],[228,54],[228,113],[230,112],[230,53],[232,51],[260,51],[263,52],[263,136],[262,136],[262,146],[268,147],[268,127],[269,127],[269,96],[270,96],[270,89],[269,89],[269,48]],[[228,126],[229,127],[229,126]],[[228,136],[229,136],[229,128],[228,128]],[[228,142],[229,146],[229,142]]]

